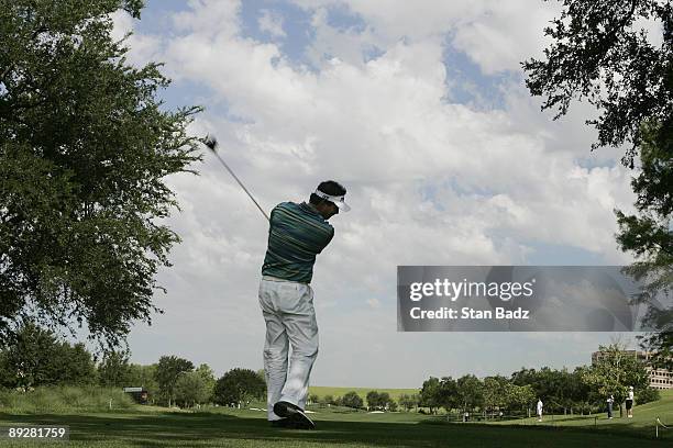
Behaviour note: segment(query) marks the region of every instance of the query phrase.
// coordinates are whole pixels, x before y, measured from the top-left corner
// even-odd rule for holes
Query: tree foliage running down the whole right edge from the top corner
[[[631,186],[637,214],[616,210],[617,242],[637,261],[627,273],[644,282],[638,301],[648,303],[653,332],[641,341],[657,351],[654,365],[673,369],[673,306],[659,306],[654,295],[673,288],[673,5],[670,1],[565,0],[561,18],[544,33],[553,40],[545,60],[522,64],[531,94],[545,97],[542,110],[565,114],[573,99],[586,98],[599,112],[587,121],[598,131],[599,146],[630,144],[622,164],[641,171]],[[639,19],[661,24],[657,47],[638,29]]]

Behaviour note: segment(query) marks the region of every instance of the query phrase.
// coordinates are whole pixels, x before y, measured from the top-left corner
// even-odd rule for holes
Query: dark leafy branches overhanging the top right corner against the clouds
[[[587,121],[598,131],[592,148],[630,143],[622,161],[633,166],[641,125],[673,123],[673,8],[657,0],[563,0],[561,16],[544,29],[552,38],[545,60],[522,63],[526,86],[545,97],[542,110],[564,115],[573,99],[587,99],[600,115]],[[653,46],[639,19],[662,25],[663,43]]]

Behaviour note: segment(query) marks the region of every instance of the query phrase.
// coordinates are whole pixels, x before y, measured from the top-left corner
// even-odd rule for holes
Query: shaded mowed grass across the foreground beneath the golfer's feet
[[[638,411],[638,407],[636,408]],[[627,429],[548,425],[446,424],[420,414],[334,412],[317,408],[312,432],[272,428],[265,413],[219,408],[209,413],[144,412],[81,415],[0,414],[11,424],[67,425],[68,447],[664,447],[664,440]],[[3,447],[44,446],[0,440]],[[58,446],[58,445],[49,445]]]

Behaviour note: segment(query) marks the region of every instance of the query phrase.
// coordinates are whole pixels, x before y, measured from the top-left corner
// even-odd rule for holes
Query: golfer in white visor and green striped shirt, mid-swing
[[[339,211],[350,210],[344,202],[345,193],[345,188],[328,180],[311,193],[309,202],[283,202],[271,213],[260,306],[266,322],[264,373],[268,419],[274,426],[315,427],[304,412],[311,368],[318,356],[318,324],[310,282],[316,256],[334,236],[328,220]]]

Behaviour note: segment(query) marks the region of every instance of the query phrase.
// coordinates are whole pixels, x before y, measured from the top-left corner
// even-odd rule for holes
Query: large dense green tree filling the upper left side
[[[159,65],[113,42],[110,14],[142,3],[0,0],[0,343],[35,317],[113,347],[158,311],[179,242],[164,178],[201,159],[200,108],[159,108]]]

